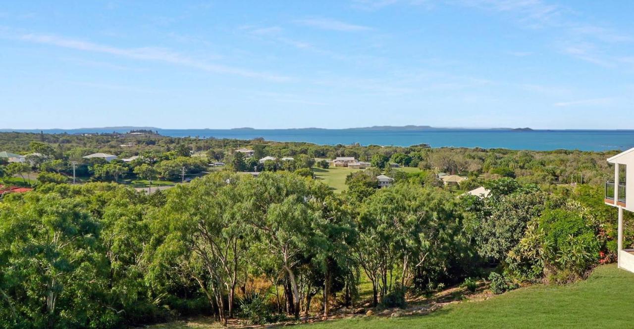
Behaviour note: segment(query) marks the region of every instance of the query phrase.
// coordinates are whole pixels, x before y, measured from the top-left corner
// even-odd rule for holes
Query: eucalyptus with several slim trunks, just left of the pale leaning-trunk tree
[[[195,280],[224,324],[233,316],[238,271],[252,240],[245,225],[249,202],[241,183],[249,178],[218,173],[179,185],[155,214],[155,221],[164,222],[167,229],[155,229],[160,243],[154,266],[168,264]]]

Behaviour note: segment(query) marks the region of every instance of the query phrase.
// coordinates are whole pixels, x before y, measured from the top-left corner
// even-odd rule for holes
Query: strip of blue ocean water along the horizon
[[[8,131],[8,130],[3,130]],[[40,130],[11,130],[40,132]],[[129,128],[88,128],[43,130],[46,133],[104,133],[128,132]],[[382,146],[411,146],[429,144],[432,147],[503,147],[548,151],[579,149],[606,151],[634,147],[634,130],[495,130],[495,129],[158,129],[161,135],[171,137],[216,137],[254,139],[280,142],[311,142],[314,144],[369,144]]]

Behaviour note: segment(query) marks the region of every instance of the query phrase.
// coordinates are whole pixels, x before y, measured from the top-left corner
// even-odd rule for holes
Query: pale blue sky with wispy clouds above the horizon
[[[634,1],[8,1],[0,128],[634,128]]]

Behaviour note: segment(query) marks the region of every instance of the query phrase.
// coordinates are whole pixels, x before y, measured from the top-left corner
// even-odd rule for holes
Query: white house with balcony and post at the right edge
[[[634,147],[607,159],[614,164],[614,181],[605,182],[605,203],[618,208],[618,264],[619,268],[634,272],[634,249],[623,249],[623,209],[634,211],[634,201],[627,196],[634,196],[634,183],[627,184],[627,178],[634,179]]]

